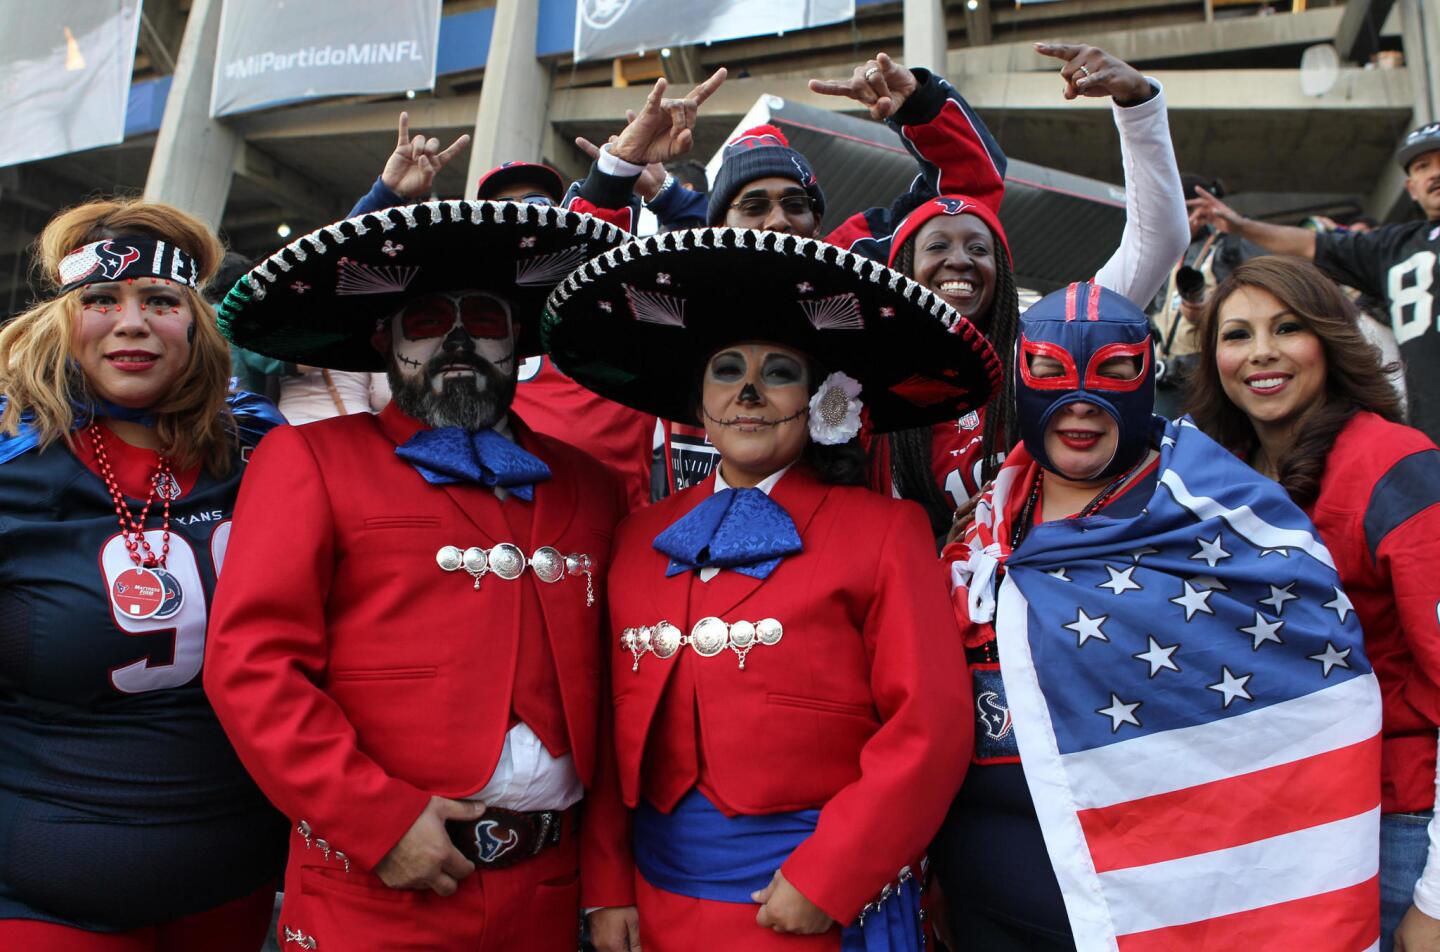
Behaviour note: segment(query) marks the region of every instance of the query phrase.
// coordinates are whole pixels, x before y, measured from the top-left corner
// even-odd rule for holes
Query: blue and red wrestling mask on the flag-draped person
[[[1115,455],[1092,478],[1115,477],[1149,445],[1155,410],[1155,362],[1151,323],[1119,294],[1084,282],[1048,294],[1020,318],[1015,344],[1015,405],[1020,438],[1044,468],[1056,471],[1045,452],[1045,429],[1064,406],[1090,403],[1119,428]],[[1058,376],[1031,372],[1037,357],[1050,357]],[[1102,374],[1102,364],[1132,357],[1133,377]],[[1044,362],[1048,366],[1050,362]]]

